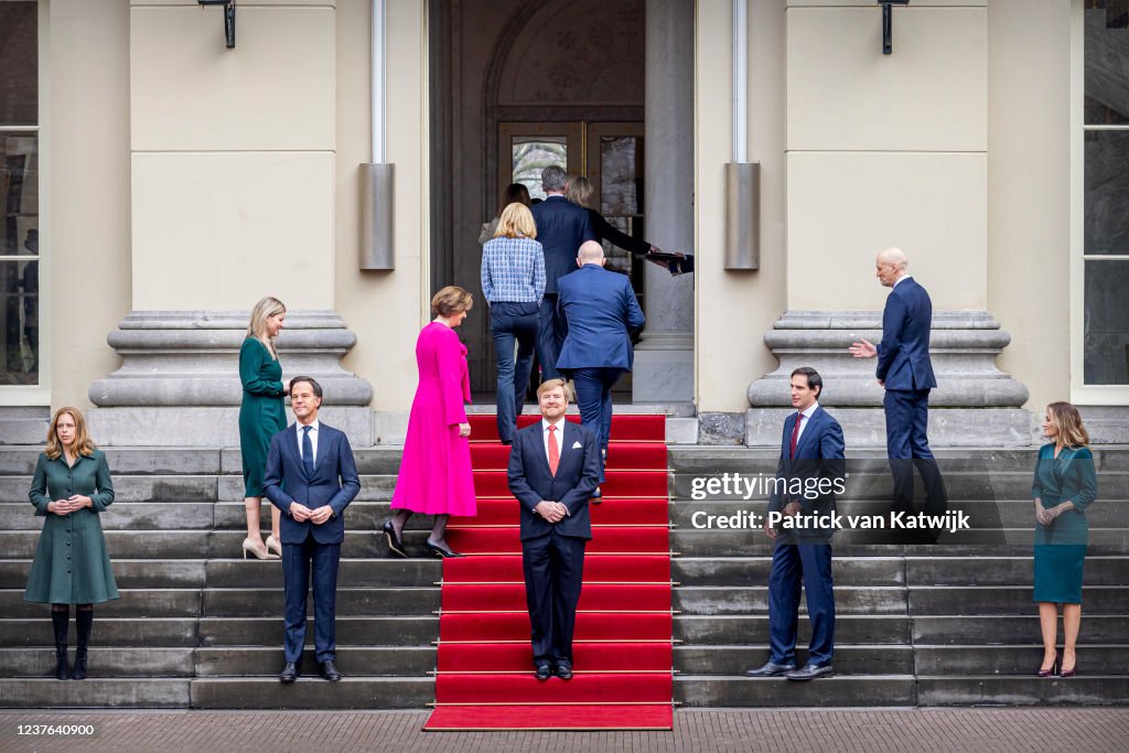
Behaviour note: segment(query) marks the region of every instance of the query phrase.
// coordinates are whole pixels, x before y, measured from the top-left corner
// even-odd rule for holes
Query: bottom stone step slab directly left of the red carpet
[[[325,682],[317,666],[303,666],[297,682],[278,677],[198,677],[192,681],[194,709],[422,709],[435,701],[431,677],[366,677],[347,674]]]

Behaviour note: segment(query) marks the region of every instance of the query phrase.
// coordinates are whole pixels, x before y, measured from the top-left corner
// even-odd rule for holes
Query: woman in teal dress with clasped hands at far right
[[[1075,646],[1082,625],[1082,573],[1089,526],[1086,508],[1097,497],[1089,435],[1070,403],[1051,403],[1043,419],[1051,444],[1039,449],[1031,497],[1035,505],[1035,589],[1043,632],[1040,677],[1058,664],[1058,605],[1062,605],[1062,662],[1059,675],[1075,674]]]

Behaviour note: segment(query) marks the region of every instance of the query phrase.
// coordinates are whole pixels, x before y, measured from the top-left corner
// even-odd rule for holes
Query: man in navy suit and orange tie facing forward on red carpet
[[[572,632],[599,475],[595,435],[564,420],[563,379],[537,387],[541,421],[514,436],[509,490],[522,506],[522,569],[537,680],[572,678]]]

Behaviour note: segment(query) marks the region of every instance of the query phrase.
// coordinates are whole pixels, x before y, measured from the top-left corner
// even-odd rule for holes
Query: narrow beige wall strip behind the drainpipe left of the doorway
[[[338,7],[336,308],[357,345],[345,368],[373,385],[373,408],[406,411],[415,392],[415,336],[430,318],[428,271],[427,3],[387,3],[387,161],[395,165],[393,272],[359,272],[358,165],[371,161],[370,5]]]

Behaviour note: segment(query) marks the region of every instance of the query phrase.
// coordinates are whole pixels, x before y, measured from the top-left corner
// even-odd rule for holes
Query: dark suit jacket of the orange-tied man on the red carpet
[[[522,541],[543,536],[553,526],[562,536],[592,539],[588,498],[599,485],[596,435],[579,423],[564,421],[561,458],[554,476],[549,472],[541,428],[542,421],[537,421],[518,431],[509,452],[509,491],[522,504]],[[559,523],[549,523],[533,511],[542,500],[561,502],[569,514]]]

